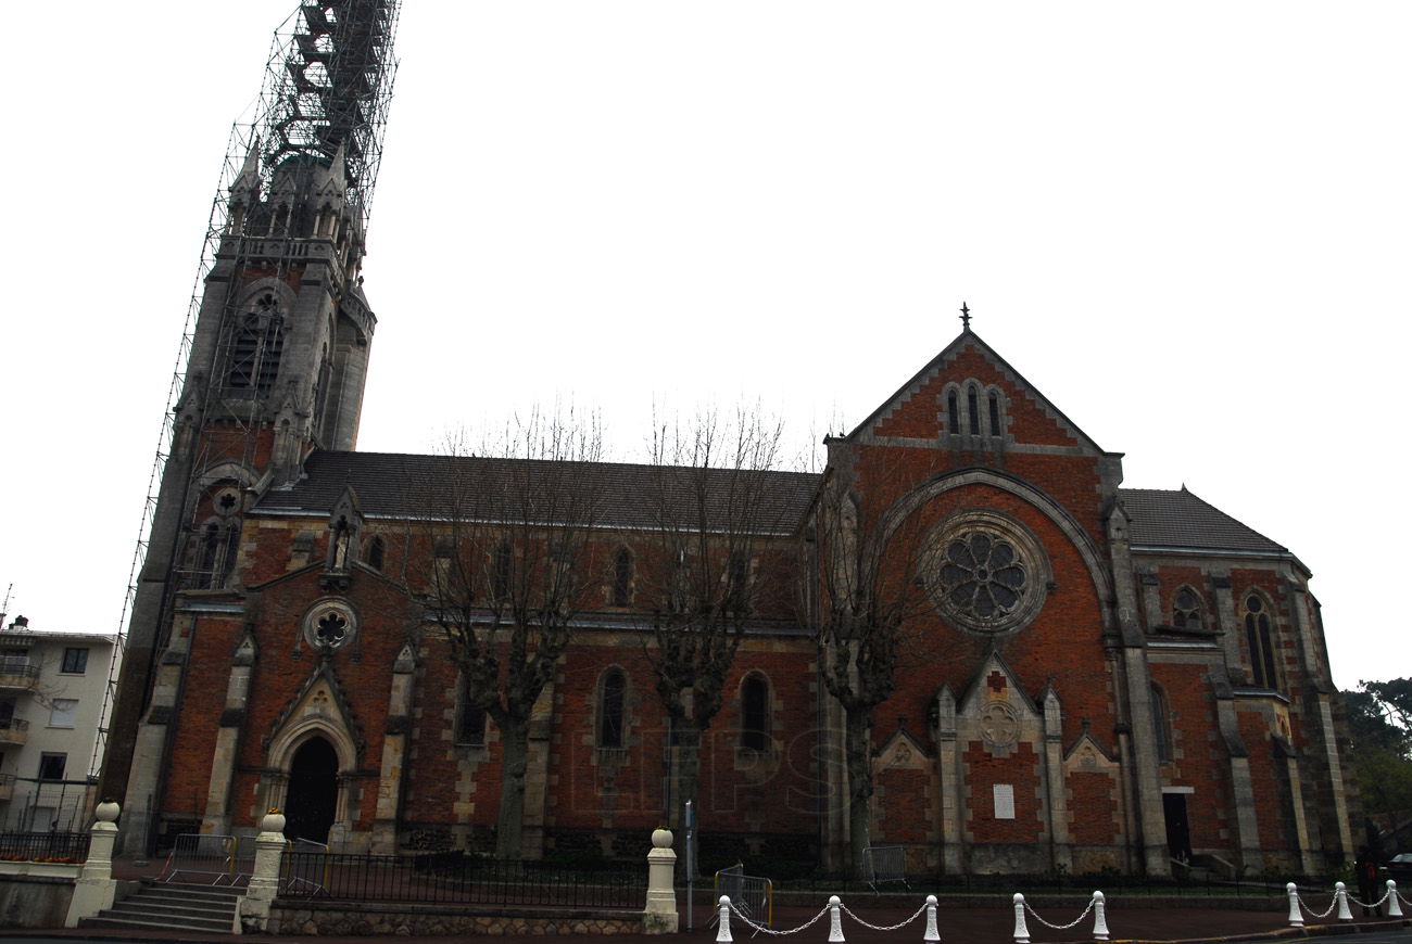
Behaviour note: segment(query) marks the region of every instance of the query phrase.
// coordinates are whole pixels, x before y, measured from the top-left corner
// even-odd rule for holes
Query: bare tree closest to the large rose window
[[[830,443],[840,456],[843,440]],[[849,866],[864,875],[873,821],[873,711],[897,690],[912,632],[909,618],[925,591],[918,580],[918,516],[858,501],[851,490],[853,461],[834,461],[813,515],[823,684],[843,710],[847,772]]]

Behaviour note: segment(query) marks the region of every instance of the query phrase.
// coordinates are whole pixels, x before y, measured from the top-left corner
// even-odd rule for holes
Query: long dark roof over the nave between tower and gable
[[[328,514],[352,485],[370,518],[435,519],[455,509],[465,518],[517,519],[532,505],[548,521],[565,507],[570,490],[563,485],[572,484],[576,497],[592,497],[592,519],[600,526],[692,526],[699,491],[709,528],[730,526],[731,504],[737,502],[754,509],[751,518],[761,532],[789,533],[803,519],[822,478],[753,471],[744,480],[724,468],[325,450],[311,454],[304,471],[297,484],[267,491],[256,511]],[[741,498],[748,490],[757,490],[758,498]],[[568,514],[586,524],[582,512]]]

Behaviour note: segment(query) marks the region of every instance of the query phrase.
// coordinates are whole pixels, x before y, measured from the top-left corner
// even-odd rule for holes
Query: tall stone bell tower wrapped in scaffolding
[[[315,449],[357,440],[377,319],[366,233],[400,0],[302,0],[275,32],[256,119],[232,130],[128,588],[102,793],[126,851],[151,840],[164,728],[158,658],[189,614],[240,600],[246,508]],[[145,553],[144,553],[145,552]],[[145,722],[145,724],[144,724]]]

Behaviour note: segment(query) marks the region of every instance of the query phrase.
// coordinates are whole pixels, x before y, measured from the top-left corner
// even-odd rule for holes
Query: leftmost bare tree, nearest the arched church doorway
[[[596,418],[535,412],[480,454],[448,456],[433,485],[428,612],[450,645],[466,707],[500,731],[497,858],[522,858],[534,706],[578,607],[602,584],[592,540],[602,502],[580,474],[600,454]]]

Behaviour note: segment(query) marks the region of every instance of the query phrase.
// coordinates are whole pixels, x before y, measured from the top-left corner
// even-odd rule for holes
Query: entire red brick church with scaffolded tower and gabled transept
[[[306,6],[337,16],[309,13],[319,42],[289,55],[385,52],[395,3]],[[367,95],[354,85],[329,95]],[[592,566],[528,721],[524,857],[640,858],[682,817],[652,569],[662,509],[690,504],[662,498],[664,476],[690,473],[716,502],[702,553],[750,538],[723,567],[744,615],[699,744],[703,859],[842,868],[856,777],[829,672],[857,642],[830,627],[868,607],[892,634],[864,732],[868,844],[902,847],[908,872],[1309,875],[1350,855],[1309,570],[1185,488],[1123,488],[1121,454],[969,320],[827,440],[822,473],[357,452],[376,162],[321,127],[254,141],[226,188],[103,775],[133,847],[253,834],[278,807],[291,837],[336,851],[491,849],[505,738],[469,696],[442,588],[457,528],[511,533],[476,498],[514,483],[594,498],[578,522]],[[727,521],[737,481],[758,501]],[[563,529],[545,515],[528,543],[559,560]],[[476,547],[472,624],[530,553]]]

